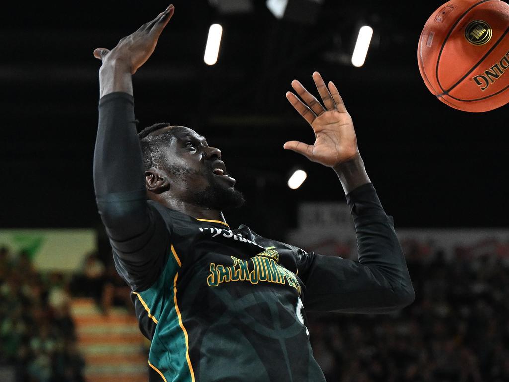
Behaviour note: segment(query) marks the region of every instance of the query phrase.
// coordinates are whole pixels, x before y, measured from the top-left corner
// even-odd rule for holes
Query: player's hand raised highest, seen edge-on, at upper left
[[[94,56],[102,60],[103,63],[115,62],[117,65],[126,65],[130,68],[131,74],[134,74],[149,59],[156,47],[159,35],[174,12],[175,7],[169,6],[155,19],[143,24],[136,32],[121,39],[115,48],[111,50],[95,49]]]

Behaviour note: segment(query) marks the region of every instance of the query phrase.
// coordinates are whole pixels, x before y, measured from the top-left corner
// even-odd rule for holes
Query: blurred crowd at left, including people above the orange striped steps
[[[95,252],[64,275],[40,272],[29,252],[0,246],[0,382],[2,367],[16,382],[84,381],[71,297],[94,298],[104,315],[116,306],[134,312],[129,287]]]

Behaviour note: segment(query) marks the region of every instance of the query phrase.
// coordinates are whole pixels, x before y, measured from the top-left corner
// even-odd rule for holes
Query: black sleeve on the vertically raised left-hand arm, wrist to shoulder
[[[147,203],[130,94],[109,93],[99,101],[94,186],[117,269],[134,290],[149,287],[166,259],[169,232]]]

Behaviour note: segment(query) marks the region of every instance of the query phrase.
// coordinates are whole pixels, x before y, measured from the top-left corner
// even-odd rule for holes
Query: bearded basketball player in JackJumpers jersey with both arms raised
[[[352,119],[336,87],[313,73],[320,104],[293,81],[290,103],[312,126],[314,145],[286,149],[330,167],[343,184],[359,262],[322,256],[231,228],[239,206],[221,151],[183,126],[136,134],[131,75],[152,54],[174,14],[169,6],[111,49],[98,48],[97,204],[116,267],[132,288],[151,340],[151,381],[324,381],[303,307],[383,313],[414,299],[405,259],[366,174]]]

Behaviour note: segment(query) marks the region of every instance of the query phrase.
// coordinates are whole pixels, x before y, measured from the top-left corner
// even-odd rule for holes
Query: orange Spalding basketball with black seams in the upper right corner
[[[444,4],[426,22],[417,46],[428,89],[465,112],[487,112],[509,102],[508,32],[509,5],[504,2]]]

